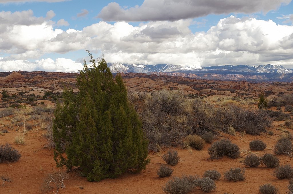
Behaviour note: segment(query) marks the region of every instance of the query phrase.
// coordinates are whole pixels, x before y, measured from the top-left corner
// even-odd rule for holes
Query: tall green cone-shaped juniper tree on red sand
[[[127,89],[118,74],[113,80],[103,58],[77,78],[79,93],[63,93],[64,103],[54,113],[54,160],[58,167],[80,169],[89,181],[115,178],[146,168],[148,141],[138,114],[127,103]],[[65,155],[64,155],[65,153]]]

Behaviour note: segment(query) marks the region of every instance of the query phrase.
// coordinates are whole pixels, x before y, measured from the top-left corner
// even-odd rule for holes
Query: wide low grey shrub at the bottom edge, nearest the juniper
[[[163,191],[167,194],[184,194],[193,190],[197,185],[198,177],[186,176],[173,177],[163,187]]]

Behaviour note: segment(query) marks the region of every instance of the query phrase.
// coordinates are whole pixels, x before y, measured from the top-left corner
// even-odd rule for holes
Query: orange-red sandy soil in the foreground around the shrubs
[[[284,121],[282,121],[284,122]],[[175,148],[181,157],[180,162],[174,169],[173,176],[200,175],[202,176],[205,170],[216,169],[222,175],[230,168],[241,167],[245,168],[245,181],[227,182],[223,176],[219,181],[216,181],[216,190],[211,193],[258,193],[258,187],[265,183],[272,183],[280,187],[281,193],[286,193],[289,180],[279,180],[272,176],[274,169],[266,167],[247,168],[243,163],[245,156],[250,153],[249,142],[253,139],[261,139],[267,144],[264,151],[254,152],[258,156],[264,153],[272,153],[272,148],[280,138],[282,131],[275,130],[276,126],[282,122],[274,123],[272,130],[275,135],[268,136],[266,134],[260,136],[241,135],[237,133],[236,136],[222,134],[222,137],[229,138],[233,143],[239,145],[241,150],[241,157],[238,159],[231,159],[224,157],[222,159],[209,159],[207,152],[210,144],[206,144],[201,151],[187,150]],[[5,124],[5,121],[4,121]],[[1,127],[7,129],[7,127]],[[289,129],[287,129],[289,130]],[[53,160],[53,150],[45,149],[47,140],[42,137],[42,129],[33,127],[25,137],[25,145],[16,145],[14,137],[18,132],[9,130],[9,133],[4,133],[0,136],[0,143],[5,144],[9,142],[12,146],[21,152],[21,159],[15,163],[0,164],[0,175],[5,174],[13,181],[5,182],[4,187],[0,186],[0,193],[43,193],[43,180],[48,173],[52,173],[56,168]],[[293,130],[289,130],[293,133]],[[162,150],[161,153],[150,153],[151,163],[138,174],[125,173],[119,178],[106,179],[100,182],[88,182],[85,178],[80,177],[77,173],[70,173],[70,179],[65,181],[65,188],[59,190],[59,193],[163,193],[162,187],[171,177],[159,178],[156,171],[161,164],[165,162],[161,155],[168,149]],[[291,164],[293,160],[289,156],[277,156],[280,159],[280,164]],[[53,191],[53,190],[52,190]],[[50,191],[51,192],[51,191]],[[200,190],[194,190],[190,193],[203,193]]]

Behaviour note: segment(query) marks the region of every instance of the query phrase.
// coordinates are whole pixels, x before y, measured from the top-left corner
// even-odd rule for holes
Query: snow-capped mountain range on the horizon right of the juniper
[[[214,71],[229,71],[231,73],[245,72],[245,73],[293,73],[292,69],[286,69],[281,65],[221,65],[221,66],[211,66],[211,67],[201,67],[200,65],[173,65],[173,64],[156,64],[156,65],[146,65],[146,64],[129,64],[129,63],[108,63],[112,73],[149,73],[149,72],[186,72],[186,71],[197,71],[197,72],[209,72],[209,70]]]

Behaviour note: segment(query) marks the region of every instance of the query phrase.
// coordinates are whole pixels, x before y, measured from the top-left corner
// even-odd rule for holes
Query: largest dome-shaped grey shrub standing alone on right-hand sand
[[[220,141],[212,143],[208,149],[211,158],[222,158],[228,156],[230,158],[237,158],[240,155],[239,147],[233,144],[229,139],[221,139]]]

